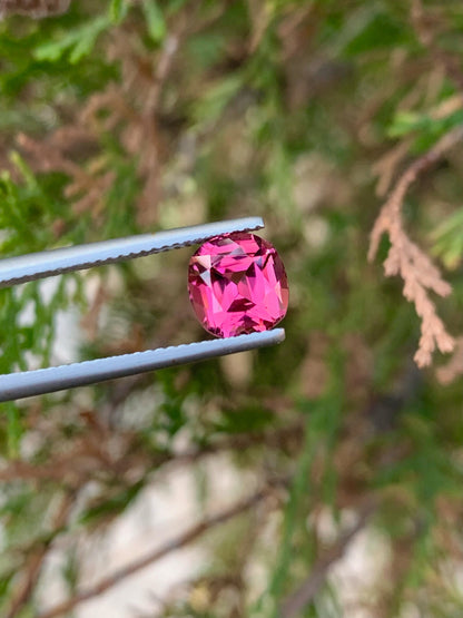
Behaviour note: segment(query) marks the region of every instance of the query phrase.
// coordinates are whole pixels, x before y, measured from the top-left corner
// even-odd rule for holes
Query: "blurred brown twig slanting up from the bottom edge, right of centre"
[[[368,523],[377,509],[374,500],[367,501],[358,511],[358,520],[349,530],[344,532],[333,547],[314,565],[309,576],[294,592],[283,602],[278,616],[280,618],[292,618],[299,616],[299,612],[309,604],[319,591],[331,567],[339,560],[355,536]]]

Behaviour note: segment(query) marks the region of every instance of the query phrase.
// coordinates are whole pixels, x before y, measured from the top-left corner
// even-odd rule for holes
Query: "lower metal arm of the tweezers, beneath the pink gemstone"
[[[0,375],[0,402],[42,395],[115,377],[125,377],[214,356],[265,347],[280,343],[284,339],[285,331],[274,328],[249,335],[186,343],[70,365]]]

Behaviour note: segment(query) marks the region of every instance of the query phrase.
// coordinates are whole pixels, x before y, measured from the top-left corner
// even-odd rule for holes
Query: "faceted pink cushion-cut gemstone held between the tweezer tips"
[[[267,241],[248,233],[204,243],[189,261],[188,292],[199,322],[218,337],[267,331],[288,306],[282,259]]]

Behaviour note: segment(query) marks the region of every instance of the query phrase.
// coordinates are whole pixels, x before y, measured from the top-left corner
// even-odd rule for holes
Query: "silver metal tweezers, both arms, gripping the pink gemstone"
[[[0,287],[102,264],[124,262],[134,257],[196,245],[220,234],[249,232],[262,227],[264,227],[264,222],[260,217],[246,217],[1,259]],[[285,331],[274,328],[262,333],[200,341],[81,363],[3,374],[0,375],[0,402],[52,393],[115,377],[135,375],[146,371],[273,345],[284,339]]]

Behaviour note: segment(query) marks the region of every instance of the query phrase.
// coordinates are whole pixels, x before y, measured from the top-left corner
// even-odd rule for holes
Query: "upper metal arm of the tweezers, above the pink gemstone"
[[[17,285],[71,271],[124,262],[154,253],[203,243],[207,238],[232,232],[250,232],[264,227],[262,217],[244,217],[115,238],[101,243],[75,245],[41,253],[0,259],[0,287]]]

